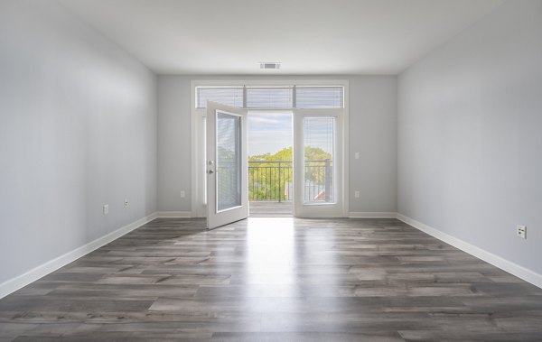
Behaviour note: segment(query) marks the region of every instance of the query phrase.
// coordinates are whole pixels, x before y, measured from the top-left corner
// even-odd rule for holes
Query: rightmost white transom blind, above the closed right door
[[[342,87],[296,87],[297,108],[342,108]]]

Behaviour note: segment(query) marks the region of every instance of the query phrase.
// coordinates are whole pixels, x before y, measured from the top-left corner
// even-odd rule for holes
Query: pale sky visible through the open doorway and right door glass
[[[330,118],[309,118],[305,121],[305,144],[332,152]],[[254,112],[248,114],[248,155],[274,154],[292,146],[291,112]],[[331,133],[332,134],[332,133]]]

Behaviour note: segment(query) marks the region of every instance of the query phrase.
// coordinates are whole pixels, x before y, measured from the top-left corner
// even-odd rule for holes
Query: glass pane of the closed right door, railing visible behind
[[[304,118],[304,203],[334,203],[335,118]]]

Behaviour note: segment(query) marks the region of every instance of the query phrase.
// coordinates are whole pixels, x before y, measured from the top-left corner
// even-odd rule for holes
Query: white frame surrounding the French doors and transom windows
[[[307,77],[304,79],[192,79],[191,80],[191,168],[192,168],[192,217],[206,217],[207,201],[206,201],[206,164],[205,164],[205,133],[202,127],[206,121],[206,109],[196,107],[196,87],[269,87],[269,86],[285,86],[295,85],[303,86],[342,86],[344,88],[344,107],[333,108],[331,110],[342,111],[342,216],[348,217],[349,212],[349,80],[348,79],[318,79]],[[270,109],[270,108],[267,108]],[[282,108],[287,110],[302,111],[304,109]],[[251,110],[251,108],[248,108]],[[257,108],[264,111],[266,108]],[[273,108],[277,110],[277,108]],[[325,109],[315,109],[325,110]],[[295,212],[294,212],[295,216]],[[329,217],[329,216],[328,216]]]

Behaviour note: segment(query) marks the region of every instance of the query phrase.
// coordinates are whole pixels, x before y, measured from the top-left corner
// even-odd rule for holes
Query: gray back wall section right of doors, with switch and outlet
[[[397,212],[397,78],[350,77],[350,212]],[[360,152],[360,159],[354,153]],[[360,190],[360,199],[354,191]]]

